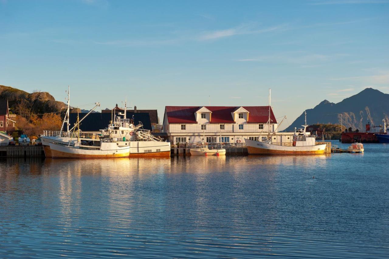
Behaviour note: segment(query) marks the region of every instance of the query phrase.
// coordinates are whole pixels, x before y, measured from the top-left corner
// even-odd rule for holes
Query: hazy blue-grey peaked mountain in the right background
[[[339,103],[324,100],[312,109],[307,110],[307,124],[342,124],[347,128],[365,129],[365,124],[382,124],[382,119],[389,116],[389,94],[373,88],[366,88]],[[289,126],[286,131],[293,131],[294,127],[301,128],[304,124],[304,112]]]

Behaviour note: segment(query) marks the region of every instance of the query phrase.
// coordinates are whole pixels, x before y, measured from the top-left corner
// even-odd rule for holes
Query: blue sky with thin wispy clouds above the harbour
[[[271,105],[389,92],[389,0],[0,0],[0,84],[85,109]],[[307,114],[309,118],[309,114]],[[279,121],[281,118],[279,119]]]

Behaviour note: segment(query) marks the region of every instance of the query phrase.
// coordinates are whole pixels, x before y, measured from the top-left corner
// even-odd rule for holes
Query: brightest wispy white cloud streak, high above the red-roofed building
[[[231,37],[234,35],[244,35],[244,34],[259,34],[266,32],[275,32],[278,30],[285,30],[287,24],[276,25],[266,28],[253,28],[252,25],[240,25],[234,28],[224,29],[224,30],[214,30],[204,32],[198,37],[199,40],[216,40],[225,37]]]

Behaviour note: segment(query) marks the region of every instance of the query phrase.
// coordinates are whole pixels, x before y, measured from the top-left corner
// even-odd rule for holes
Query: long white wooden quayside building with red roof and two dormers
[[[269,120],[270,123],[267,123]],[[163,131],[172,144],[245,143],[277,129],[270,106],[166,106]]]

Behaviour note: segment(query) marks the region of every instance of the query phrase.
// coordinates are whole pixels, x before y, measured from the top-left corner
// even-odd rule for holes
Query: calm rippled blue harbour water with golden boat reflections
[[[389,145],[364,146],[0,160],[0,257],[387,258]]]

